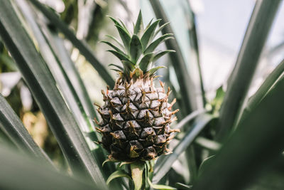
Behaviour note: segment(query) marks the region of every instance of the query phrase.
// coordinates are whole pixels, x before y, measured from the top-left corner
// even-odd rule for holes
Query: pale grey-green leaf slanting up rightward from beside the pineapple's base
[[[173,162],[178,159],[180,154],[185,151],[187,147],[194,142],[195,138],[198,134],[204,129],[205,126],[213,119],[212,115],[201,115],[199,120],[193,125],[190,130],[187,130],[185,133],[185,137],[183,137],[178,145],[173,149],[173,154],[170,155],[162,155],[158,158],[155,169],[154,169],[154,177],[153,181],[157,182],[168,173],[170,168],[173,165]]]

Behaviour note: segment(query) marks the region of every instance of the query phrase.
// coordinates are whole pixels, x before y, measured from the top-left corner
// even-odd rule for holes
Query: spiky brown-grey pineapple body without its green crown
[[[151,160],[168,153],[167,144],[175,130],[170,124],[175,120],[168,92],[163,83],[155,88],[153,78],[140,78],[127,83],[116,80],[113,90],[107,90],[104,105],[98,112],[102,117],[97,131],[102,134],[102,145],[109,159],[121,162]]]

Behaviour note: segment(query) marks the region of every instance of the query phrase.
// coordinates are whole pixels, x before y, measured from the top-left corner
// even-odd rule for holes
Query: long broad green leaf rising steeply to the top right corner
[[[256,1],[220,110],[218,141],[225,140],[234,127],[280,2]]]

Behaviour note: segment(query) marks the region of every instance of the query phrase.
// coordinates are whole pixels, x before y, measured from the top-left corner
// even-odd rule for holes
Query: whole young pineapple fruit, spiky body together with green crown
[[[133,28],[129,32],[123,22],[109,17],[119,31],[123,42],[114,39],[120,48],[107,43],[114,50],[109,50],[121,60],[123,68],[118,65],[116,70],[119,78],[113,90],[102,90],[104,105],[98,108],[102,121],[97,122],[97,131],[102,134],[102,142],[110,153],[109,159],[120,162],[136,162],[151,160],[169,152],[167,144],[173,138],[170,124],[175,111],[171,111],[175,100],[168,103],[170,88],[164,90],[163,83],[156,88],[153,80],[159,68],[151,64],[158,58],[173,51],[158,51],[155,48],[165,40],[173,38],[173,34],[165,34],[154,39],[159,31],[160,20],[152,21],[143,28],[141,12]]]

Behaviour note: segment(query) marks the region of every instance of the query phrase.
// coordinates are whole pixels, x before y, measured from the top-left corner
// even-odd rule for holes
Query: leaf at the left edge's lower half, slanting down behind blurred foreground
[[[12,110],[5,98],[0,94],[0,129],[11,141],[16,144],[16,147],[21,152],[30,154],[33,157],[38,157],[44,162],[51,164],[49,157],[43,153],[43,150],[38,147],[33,141],[33,137],[28,134],[26,127],[23,126],[20,118]]]

